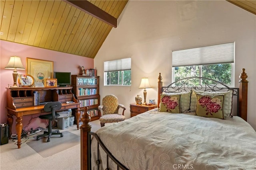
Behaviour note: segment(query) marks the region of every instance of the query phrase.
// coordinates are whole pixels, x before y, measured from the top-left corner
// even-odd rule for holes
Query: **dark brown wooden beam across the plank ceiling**
[[[103,11],[102,9],[98,8],[94,4],[90,3],[87,0],[63,0],[68,4],[90,14],[99,20],[108,23],[112,27],[117,27],[117,19],[108,14],[107,12]]]

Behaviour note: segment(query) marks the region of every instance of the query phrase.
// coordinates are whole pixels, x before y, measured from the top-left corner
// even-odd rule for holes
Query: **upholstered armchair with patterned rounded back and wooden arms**
[[[118,113],[119,108],[123,109],[122,115]],[[100,111],[100,126],[105,126],[105,123],[113,123],[125,120],[125,107],[118,104],[118,98],[112,94],[106,95],[102,99],[102,105],[98,106]]]

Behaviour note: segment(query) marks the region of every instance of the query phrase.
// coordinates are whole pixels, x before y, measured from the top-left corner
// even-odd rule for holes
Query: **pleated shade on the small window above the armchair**
[[[132,58],[104,61],[104,72],[130,70]]]

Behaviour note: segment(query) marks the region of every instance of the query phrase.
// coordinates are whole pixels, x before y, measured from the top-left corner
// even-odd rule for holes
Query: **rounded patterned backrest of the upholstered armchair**
[[[103,115],[112,114],[116,111],[116,109],[118,107],[118,99],[116,96],[114,96],[112,94],[106,95],[102,99],[102,105],[104,106],[102,109]]]

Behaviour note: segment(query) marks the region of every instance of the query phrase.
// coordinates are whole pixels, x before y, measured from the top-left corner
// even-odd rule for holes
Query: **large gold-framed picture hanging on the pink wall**
[[[53,78],[53,61],[26,58],[26,74],[45,84],[44,79]]]

